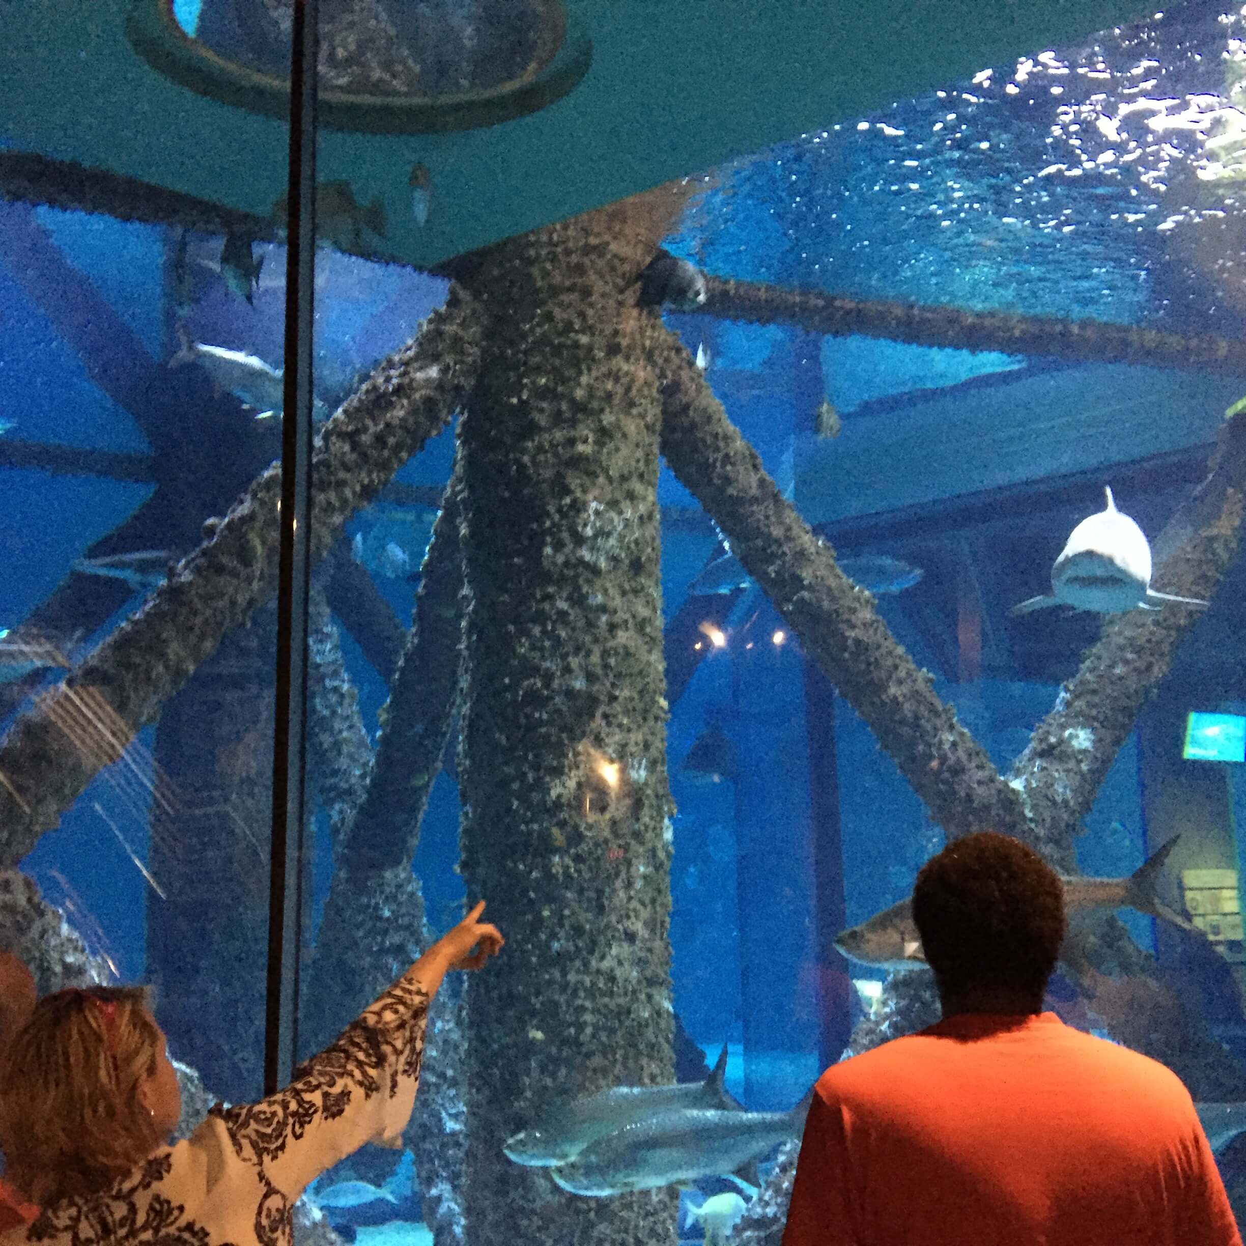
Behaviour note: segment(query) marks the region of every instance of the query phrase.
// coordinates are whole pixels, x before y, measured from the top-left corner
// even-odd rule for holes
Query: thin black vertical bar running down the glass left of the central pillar
[[[312,358],[315,292],[316,0],[295,0],[290,55],[290,162],[285,258],[277,728],[268,903],[264,1093],[290,1079],[298,1049],[303,928],[303,764],[312,520]]]

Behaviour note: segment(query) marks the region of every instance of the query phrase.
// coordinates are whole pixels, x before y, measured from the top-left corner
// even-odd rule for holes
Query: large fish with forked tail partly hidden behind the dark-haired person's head
[[[1128,878],[1062,877],[1064,910],[1069,926],[1098,908],[1136,908],[1140,913],[1161,917],[1184,931],[1194,931],[1184,917],[1172,912],[1155,893],[1164,862],[1180,835],[1174,835]],[[913,922],[912,896],[875,913],[860,926],[844,931],[835,946],[850,959],[861,964],[882,964],[896,968],[925,961],[922,937]]]

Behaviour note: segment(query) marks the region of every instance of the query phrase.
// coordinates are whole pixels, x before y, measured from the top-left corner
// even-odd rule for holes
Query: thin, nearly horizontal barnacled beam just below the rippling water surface
[[[1104,364],[1194,368],[1246,376],[1246,341],[1101,320],[1060,320],[1012,312],[850,299],[820,290],[708,277],[697,312],[750,324],[792,324],[810,333],[885,338],[920,346],[998,350]]]

